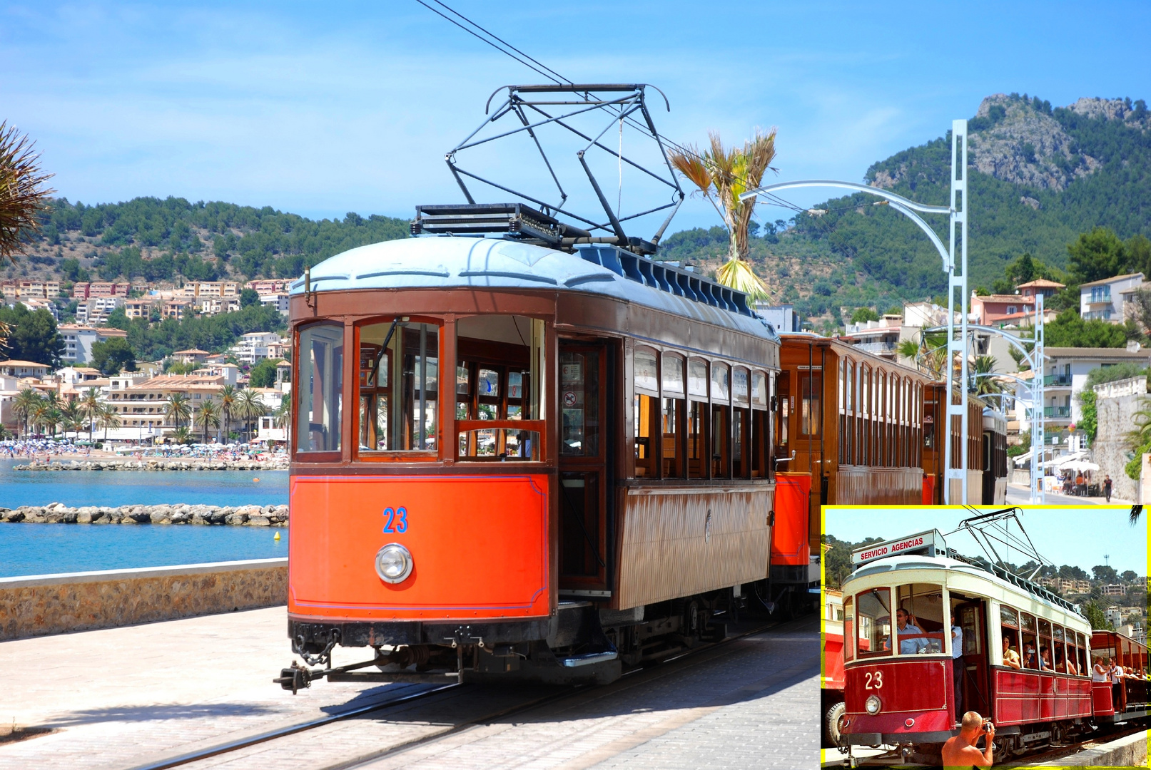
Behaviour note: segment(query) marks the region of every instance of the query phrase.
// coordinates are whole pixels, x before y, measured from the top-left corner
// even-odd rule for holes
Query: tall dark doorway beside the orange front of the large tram
[[[559,592],[569,596],[608,591],[610,351],[559,341]]]

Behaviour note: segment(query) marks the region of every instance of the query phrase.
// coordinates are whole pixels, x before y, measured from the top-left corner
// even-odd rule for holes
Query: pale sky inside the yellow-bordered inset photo
[[[1054,506],[1023,507],[1022,510],[1020,521],[1031,542],[1057,567],[1070,564],[1090,572],[1096,564],[1110,563],[1120,572],[1133,570],[1143,576],[1148,573],[1146,514],[1133,528],[1128,523],[1129,507]],[[932,528],[947,533],[969,516],[971,514],[962,508],[828,508],[824,511],[824,530],[851,542],[859,542],[864,538],[886,540]],[[948,537],[947,546],[968,556],[983,555],[975,540],[966,532]],[[1104,561],[1105,554],[1111,556],[1110,562]],[[1004,557],[1015,564],[1028,561],[1019,557],[1019,552]]]

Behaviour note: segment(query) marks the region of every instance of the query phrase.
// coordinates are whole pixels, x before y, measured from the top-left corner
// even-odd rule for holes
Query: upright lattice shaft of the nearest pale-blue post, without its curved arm
[[[947,438],[944,445],[944,485],[943,501],[951,503],[951,482],[959,480],[960,502],[967,505],[967,121],[951,123],[951,263],[955,265],[956,238],[959,241],[959,275],[953,269],[947,276],[947,363],[945,382],[947,384]],[[956,232],[958,230],[958,232]],[[955,290],[959,290],[960,333],[955,338]],[[960,359],[959,382],[955,387],[955,356]],[[959,403],[955,403],[956,390]],[[952,417],[959,417],[959,468],[952,468]]]

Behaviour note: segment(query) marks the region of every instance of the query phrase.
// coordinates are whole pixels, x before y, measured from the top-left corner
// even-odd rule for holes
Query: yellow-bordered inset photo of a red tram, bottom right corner
[[[1145,767],[1141,507],[823,508],[823,767]]]

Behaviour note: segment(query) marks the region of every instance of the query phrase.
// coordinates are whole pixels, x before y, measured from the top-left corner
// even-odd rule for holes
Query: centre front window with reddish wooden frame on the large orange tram
[[[394,326],[392,326],[392,324],[394,324]],[[448,324],[445,324],[445,322],[444,322],[444,319],[442,317],[436,317],[436,316],[394,316],[394,315],[391,315],[391,316],[374,316],[374,317],[371,317],[371,318],[361,318],[361,319],[357,321],[355,324],[352,324],[352,339],[355,340],[355,345],[356,345],[356,356],[352,359],[352,363],[355,365],[355,372],[356,372],[355,377],[352,379],[353,387],[355,387],[355,399],[353,399],[353,402],[355,402],[355,406],[356,406],[356,415],[355,415],[355,418],[352,419],[352,431],[355,433],[355,437],[353,437],[355,440],[353,440],[353,444],[352,444],[352,452],[353,452],[352,459],[355,461],[381,462],[381,461],[403,460],[403,461],[411,461],[411,462],[427,462],[427,461],[437,461],[437,460],[442,459],[442,456],[443,456],[443,454],[442,454],[443,453],[443,446],[442,446],[443,445],[443,440],[442,440],[443,439],[443,436],[442,436],[442,432],[443,432],[442,431],[442,426],[443,426],[443,423],[442,423],[442,421],[443,421],[443,413],[442,413],[442,390],[441,388],[442,388],[442,386],[444,384],[442,382],[442,375],[443,375],[442,362],[443,362],[443,348],[444,348],[444,333],[445,333],[445,326],[447,325]],[[376,328],[376,326],[380,326],[380,328],[390,328],[391,329],[390,338],[387,337],[387,332],[386,332],[386,337],[384,337],[384,339],[388,341],[388,346],[387,346],[386,349],[382,349],[382,351],[379,352],[380,355],[376,359],[378,362],[380,362],[380,363],[378,363],[378,370],[375,372],[376,379],[374,382],[376,382],[376,383],[379,382],[380,374],[382,371],[382,369],[379,369],[379,367],[381,367],[381,365],[387,365],[388,367],[388,370],[387,370],[387,383],[388,384],[383,385],[383,386],[380,386],[380,385],[367,385],[366,384],[367,378],[365,378],[363,376],[364,375],[364,371],[363,371],[364,346],[365,345],[369,345],[369,342],[363,341],[364,330],[367,329],[367,328]],[[405,332],[407,332],[409,330],[414,330],[414,329],[427,331],[426,328],[428,328],[428,326],[432,326],[432,328],[435,329],[434,333],[435,333],[435,337],[436,337],[436,339],[435,339],[435,359],[434,359],[435,363],[433,364],[434,369],[435,369],[435,372],[434,372],[435,384],[430,385],[430,384],[426,384],[426,383],[421,382],[420,383],[420,387],[417,388],[416,387],[416,383],[417,383],[416,378],[418,377],[418,375],[413,370],[411,372],[411,376],[413,378],[412,383],[411,383],[412,390],[411,390],[411,393],[407,393],[406,391],[407,391],[407,376],[409,376],[409,372],[406,371],[405,359],[409,356],[409,353],[406,352],[406,346],[405,346],[405,342],[404,342],[404,339],[406,337]],[[429,336],[429,334],[425,336],[425,340],[427,339],[427,336]],[[417,351],[418,351],[418,348],[417,348]],[[397,356],[397,352],[398,352],[398,356]],[[427,352],[432,353],[432,348],[429,347],[427,349]],[[413,367],[414,365],[419,365],[416,362],[419,359],[419,353],[418,352],[417,353],[412,353],[411,357],[412,357],[412,365]],[[433,356],[432,355],[427,355],[427,360],[428,360],[428,362],[432,362],[433,361]],[[383,361],[387,361],[387,364],[383,364],[382,363]],[[424,371],[424,376],[425,377],[428,377],[428,372],[427,372],[428,368],[429,367],[426,367],[426,365],[422,367],[422,371]],[[432,378],[428,377],[428,383],[430,383],[430,382],[432,382]],[[457,387],[457,383],[456,383],[456,378],[455,377],[452,377],[452,379],[451,379],[451,387],[452,387],[452,390],[455,390]],[[367,391],[367,392],[365,392],[365,391]],[[403,391],[403,392],[401,392],[401,391]],[[397,393],[399,393],[399,394],[397,395]],[[397,441],[403,441],[403,442],[413,440],[412,437],[406,436],[409,429],[405,428],[404,431],[403,431],[403,433],[401,433],[399,432],[401,431],[399,426],[401,425],[407,425],[411,430],[414,430],[414,419],[416,419],[416,417],[414,417],[414,414],[413,414],[413,415],[411,415],[411,419],[409,421],[407,419],[407,409],[409,409],[409,407],[418,408],[418,407],[416,407],[416,403],[418,403],[418,401],[416,403],[409,403],[407,402],[407,398],[410,396],[412,399],[419,399],[419,396],[417,396],[416,393],[422,393],[422,395],[424,395],[424,405],[425,405],[424,422],[425,422],[425,425],[427,425],[427,422],[428,422],[427,417],[428,417],[429,409],[430,409],[430,414],[432,414],[432,429],[430,429],[429,432],[425,433],[425,441],[428,441],[428,440],[433,441],[434,445],[435,445],[435,448],[398,448],[397,449],[395,447],[388,447],[388,448],[384,448],[384,449],[378,449],[378,448],[372,448],[372,447],[364,446],[363,445],[363,438],[364,437],[361,436],[361,432],[365,431],[366,428],[367,428],[366,422],[365,422],[365,417],[366,417],[366,415],[367,415],[367,413],[369,410],[369,407],[368,407],[369,402],[368,402],[368,400],[372,399],[373,396],[374,398],[379,398],[381,395],[384,396],[384,402],[387,405],[387,407],[386,407],[387,415],[384,416],[384,419],[387,421],[384,423],[384,429],[386,429],[384,430],[384,436],[387,437],[386,440],[390,441],[391,439],[395,439]],[[455,396],[452,399],[452,403],[455,405]],[[379,406],[376,406],[375,408],[379,409]],[[396,409],[399,410],[398,414],[397,414]]]

